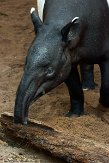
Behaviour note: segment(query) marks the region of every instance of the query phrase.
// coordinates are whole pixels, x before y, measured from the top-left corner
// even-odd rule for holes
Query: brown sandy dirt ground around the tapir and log
[[[15,93],[23,73],[24,60],[27,49],[34,37],[33,26],[30,19],[30,8],[36,6],[35,0],[15,1],[0,0],[0,114],[12,112],[14,108]],[[100,74],[95,66],[95,81],[98,87],[93,91],[85,92],[85,115],[81,118],[68,120],[64,115],[70,108],[69,95],[64,84],[49,92],[35,102],[29,111],[29,117],[48,121],[58,130],[69,134],[80,134],[96,141],[109,144],[109,113],[104,112],[98,104]],[[103,111],[102,111],[103,110]],[[69,123],[77,123],[75,132],[69,132]],[[0,137],[3,138],[0,127]],[[21,143],[22,144],[22,143]],[[61,160],[42,153],[22,147],[21,144],[10,142],[8,139],[0,141],[0,161],[36,163],[61,163]],[[18,161],[16,161],[18,162]]]

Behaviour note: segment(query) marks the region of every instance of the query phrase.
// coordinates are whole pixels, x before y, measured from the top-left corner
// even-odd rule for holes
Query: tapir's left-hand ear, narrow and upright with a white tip
[[[35,8],[33,8],[33,7],[31,8],[30,14],[31,14],[31,20],[34,25],[35,33],[37,33],[38,29],[42,26],[42,21],[38,15],[38,13],[36,13]]]

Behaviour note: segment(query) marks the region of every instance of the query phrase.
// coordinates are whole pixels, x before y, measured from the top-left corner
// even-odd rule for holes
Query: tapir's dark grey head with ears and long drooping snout
[[[28,50],[14,110],[14,122],[22,124],[27,123],[30,104],[65,81],[71,70],[66,47],[67,35],[74,22],[60,30],[43,24],[33,9],[31,16],[37,36]]]

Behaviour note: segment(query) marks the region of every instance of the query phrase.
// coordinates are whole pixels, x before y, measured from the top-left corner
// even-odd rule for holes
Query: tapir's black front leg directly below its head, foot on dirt
[[[72,66],[70,75],[66,80],[66,85],[70,94],[71,108],[66,116],[81,116],[84,113],[84,94],[77,66]]]

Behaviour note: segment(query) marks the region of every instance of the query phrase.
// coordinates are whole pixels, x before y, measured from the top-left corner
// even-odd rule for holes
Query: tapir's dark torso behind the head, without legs
[[[71,53],[72,62],[95,64],[103,61],[104,55],[109,57],[105,54],[109,48],[109,7],[106,0],[47,0],[45,13],[44,24],[53,28],[59,26],[60,30],[73,18],[79,17],[83,31],[77,50]]]

